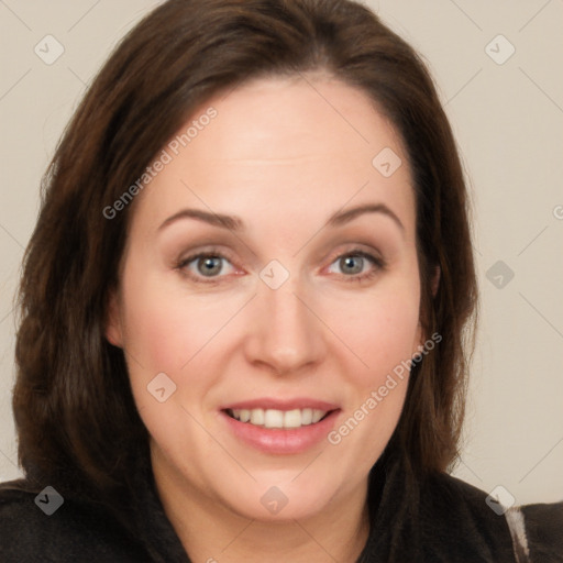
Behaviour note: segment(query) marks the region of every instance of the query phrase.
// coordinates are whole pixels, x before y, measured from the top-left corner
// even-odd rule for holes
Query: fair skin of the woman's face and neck
[[[338,406],[338,429],[423,343],[399,137],[361,90],[309,81],[254,80],[194,113],[218,111],[137,196],[110,303],[107,338],[125,352],[159,497],[197,563],[354,562],[368,534],[367,475],[408,377],[340,443],[297,453],[242,441],[221,407],[314,398]],[[390,177],[372,165],[385,147],[402,161]],[[323,227],[365,205],[379,207]],[[244,228],[180,218],[159,229],[187,208]],[[354,258],[357,249],[384,266]],[[177,267],[198,252],[223,256],[212,277],[206,258]],[[289,274],[276,289],[260,276],[273,260]],[[147,391],[159,373],[176,385],[163,402]],[[277,514],[261,501],[274,486],[287,499]]]

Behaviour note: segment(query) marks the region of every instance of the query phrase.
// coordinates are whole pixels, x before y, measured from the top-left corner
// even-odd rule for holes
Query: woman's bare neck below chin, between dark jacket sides
[[[169,474],[155,455],[153,473],[166,516],[194,562],[355,563],[367,541],[367,478],[310,517],[264,521],[245,518]]]

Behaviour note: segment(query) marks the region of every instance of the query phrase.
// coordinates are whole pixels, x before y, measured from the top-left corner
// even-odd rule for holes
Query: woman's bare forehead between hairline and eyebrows
[[[209,108],[214,117],[201,119]],[[366,93],[333,78],[246,82],[201,104],[164,150],[170,162],[142,195],[153,222],[181,206],[310,220],[349,201],[385,202],[413,220],[400,136]],[[391,176],[382,154],[401,163]]]

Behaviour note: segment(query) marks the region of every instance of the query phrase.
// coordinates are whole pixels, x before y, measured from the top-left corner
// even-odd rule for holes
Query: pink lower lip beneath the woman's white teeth
[[[257,427],[249,422],[241,422],[224,411],[221,411],[221,416],[227,421],[232,433],[244,443],[264,453],[287,455],[306,452],[313,445],[322,442],[333,429],[339,412],[340,409],[333,410],[320,422],[288,430],[271,429]]]

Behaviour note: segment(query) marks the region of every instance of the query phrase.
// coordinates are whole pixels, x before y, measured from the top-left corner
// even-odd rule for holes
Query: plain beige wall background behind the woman
[[[157,3],[0,0],[0,481],[20,475],[12,298],[40,178],[85,86]],[[517,504],[563,499],[563,2],[364,3],[430,66],[474,190],[482,324],[454,473]],[[47,34],[65,49],[52,65],[34,53]]]

